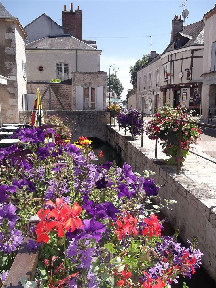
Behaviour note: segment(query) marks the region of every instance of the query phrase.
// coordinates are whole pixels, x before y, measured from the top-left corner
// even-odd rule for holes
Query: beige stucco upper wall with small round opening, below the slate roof
[[[50,81],[57,77],[56,64],[69,64],[69,78],[71,72],[96,72],[100,70],[101,51],[78,50],[30,50],[26,49],[26,63],[28,81]],[[77,68],[76,68],[77,57]],[[43,71],[38,67],[43,66]]]

